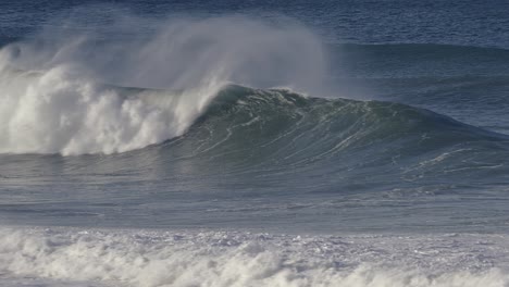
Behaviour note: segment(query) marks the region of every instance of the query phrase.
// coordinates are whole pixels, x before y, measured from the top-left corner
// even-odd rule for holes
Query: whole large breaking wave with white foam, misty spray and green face
[[[316,98],[324,48],[295,23],[131,17],[107,33],[58,27],[0,51],[0,153],[111,154],[165,142],[169,159],[251,171],[505,169],[504,135],[399,103]]]

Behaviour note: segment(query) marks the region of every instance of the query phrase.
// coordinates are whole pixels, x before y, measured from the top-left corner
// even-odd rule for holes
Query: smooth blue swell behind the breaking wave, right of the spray
[[[332,50],[336,51],[337,68],[331,82],[346,95],[417,105],[508,133],[507,49],[380,43],[343,45]]]

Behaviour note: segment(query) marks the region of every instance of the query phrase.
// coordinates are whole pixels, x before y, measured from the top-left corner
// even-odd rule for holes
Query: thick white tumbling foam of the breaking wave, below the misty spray
[[[10,75],[7,75],[10,74]],[[214,88],[129,91],[79,78],[69,66],[3,72],[0,153],[112,153],[182,135]]]

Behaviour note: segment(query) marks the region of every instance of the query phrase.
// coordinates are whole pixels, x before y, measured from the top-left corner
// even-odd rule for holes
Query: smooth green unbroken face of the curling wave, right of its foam
[[[280,164],[307,165],[356,152],[380,160],[384,154],[407,159],[458,145],[485,144],[496,149],[507,137],[394,102],[229,86],[219,92],[184,140],[199,142],[196,154],[239,152],[247,161],[265,157]]]

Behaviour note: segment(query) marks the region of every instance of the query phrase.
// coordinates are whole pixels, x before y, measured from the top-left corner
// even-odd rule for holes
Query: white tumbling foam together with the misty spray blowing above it
[[[138,149],[182,135],[226,83],[311,87],[322,77],[321,43],[298,25],[224,16],[134,30],[141,23],[124,16],[107,36],[59,23],[2,48],[0,153]]]

